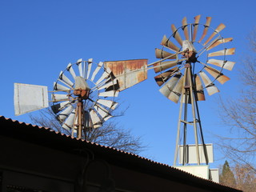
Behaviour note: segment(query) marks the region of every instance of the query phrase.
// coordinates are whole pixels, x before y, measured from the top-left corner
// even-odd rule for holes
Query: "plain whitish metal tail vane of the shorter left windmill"
[[[47,86],[14,83],[15,115],[26,114],[48,107]]]

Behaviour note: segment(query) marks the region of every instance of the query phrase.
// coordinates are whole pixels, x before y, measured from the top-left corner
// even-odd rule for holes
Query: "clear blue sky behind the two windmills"
[[[154,48],[170,25],[181,26],[183,17],[194,22],[201,14],[213,18],[211,26],[221,22],[225,38],[234,38],[236,54],[233,71],[225,74],[231,81],[220,86],[220,94],[206,95],[199,104],[207,143],[213,134],[228,134],[219,124],[218,96],[237,97],[241,87],[238,68],[248,54],[246,37],[255,25],[255,1],[98,1],[98,0],[2,0],[0,1],[0,115],[30,122],[27,114],[14,116],[14,82],[48,86],[58,78],[69,62],[78,58],[94,61],[148,58],[156,61]],[[148,79],[119,94],[126,115],[117,118],[120,126],[143,136],[149,149],[142,155],[172,165],[178,122],[178,106],[158,91],[154,72]],[[222,155],[214,148],[215,165]]]

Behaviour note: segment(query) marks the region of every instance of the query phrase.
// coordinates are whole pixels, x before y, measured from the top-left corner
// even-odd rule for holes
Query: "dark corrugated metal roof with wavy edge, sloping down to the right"
[[[18,140],[32,142],[40,146],[46,146],[67,153],[79,154],[83,149],[93,151],[97,158],[104,158],[110,164],[129,167],[129,169],[146,171],[162,178],[175,178],[178,182],[186,182],[186,185],[204,186],[213,188],[213,191],[242,191],[229,186],[224,186],[204,178],[198,178],[185,171],[178,170],[160,162],[154,162],[149,158],[143,158],[138,154],[131,154],[123,150],[117,150],[109,146],[102,146],[94,142],[71,137],[66,134],[51,130],[48,127],[34,126],[25,122],[18,122],[11,118],[0,116],[0,135],[16,138]]]

